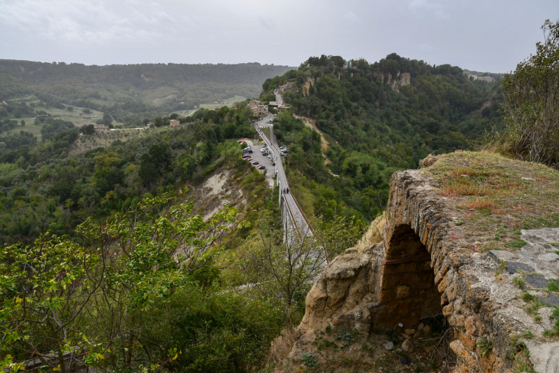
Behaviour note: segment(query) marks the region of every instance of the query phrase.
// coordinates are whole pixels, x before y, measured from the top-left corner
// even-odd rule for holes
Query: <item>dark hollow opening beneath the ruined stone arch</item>
[[[375,328],[391,329],[396,323],[411,328],[423,318],[442,314],[431,257],[419,235],[402,223],[385,239],[378,263]]]

